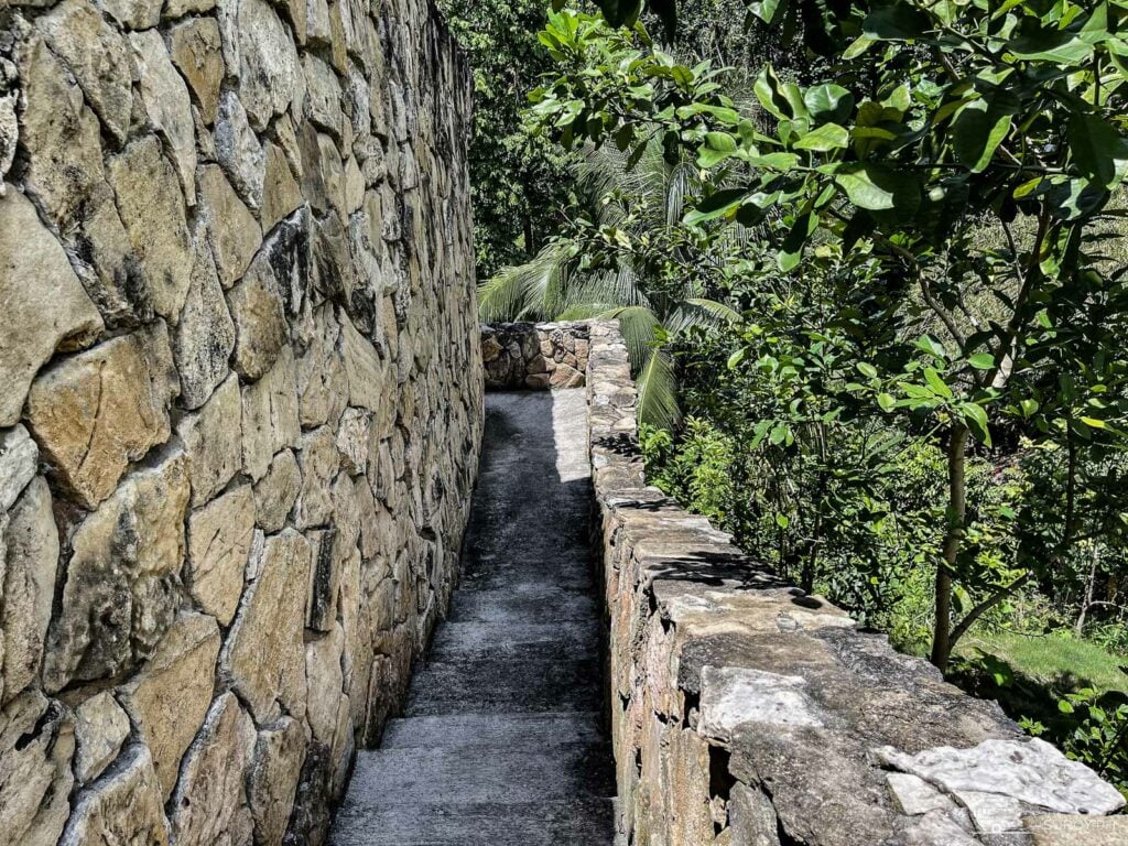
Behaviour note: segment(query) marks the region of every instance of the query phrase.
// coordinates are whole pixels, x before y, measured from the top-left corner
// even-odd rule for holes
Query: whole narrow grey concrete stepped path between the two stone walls
[[[450,619],[335,846],[610,846],[584,390],[488,394]]]

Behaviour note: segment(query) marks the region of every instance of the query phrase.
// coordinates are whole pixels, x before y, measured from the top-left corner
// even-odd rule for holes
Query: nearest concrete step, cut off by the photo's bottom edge
[[[342,808],[331,846],[610,846],[609,799]]]

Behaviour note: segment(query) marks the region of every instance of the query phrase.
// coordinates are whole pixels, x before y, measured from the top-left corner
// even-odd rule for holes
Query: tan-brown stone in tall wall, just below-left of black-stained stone
[[[228,292],[235,319],[235,369],[246,379],[258,379],[273,367],[290,341],[282,292],[264,246],[246,275]]]

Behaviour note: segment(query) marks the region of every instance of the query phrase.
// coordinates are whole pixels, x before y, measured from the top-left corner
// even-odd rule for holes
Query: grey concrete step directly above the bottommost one
[[[342,811],[395,805],[512,804],[609,799],[610,751],[593,743],[549,749],[378,749],[356,756]]]

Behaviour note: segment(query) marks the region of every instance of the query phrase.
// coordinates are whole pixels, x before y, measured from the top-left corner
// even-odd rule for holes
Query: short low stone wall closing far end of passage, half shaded
[[[585,321],[483,326],[486,389],[582,387],[589,334]]]

